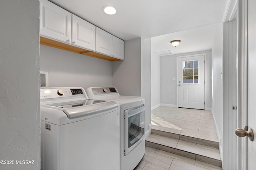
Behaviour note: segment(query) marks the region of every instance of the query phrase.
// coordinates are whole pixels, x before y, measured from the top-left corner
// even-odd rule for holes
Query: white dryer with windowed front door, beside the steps
[[[145,154],[145,99],[120,95],[115,87],[89,87],[86,94],[120,105],[120,170],[133,170]]]

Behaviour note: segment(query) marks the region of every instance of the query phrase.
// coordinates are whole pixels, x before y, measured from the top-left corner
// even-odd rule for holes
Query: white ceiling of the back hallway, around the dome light
[[[212,24],[153,37],[152,51],[161,52],[158,55],[170,55],[212,49],[216,26]],[[172,40],[180,40],[180,45],[172,46]]]

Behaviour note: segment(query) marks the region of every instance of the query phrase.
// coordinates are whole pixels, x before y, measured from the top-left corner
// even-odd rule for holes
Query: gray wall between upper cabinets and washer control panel
[[[40,45],[40,71],[48,71],[49,87],[112,86],[112,62]]]

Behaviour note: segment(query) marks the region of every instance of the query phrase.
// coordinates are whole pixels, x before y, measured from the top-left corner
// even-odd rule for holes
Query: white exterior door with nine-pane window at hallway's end
[[[178,107],[204,109],[204,55],[177,58]]]

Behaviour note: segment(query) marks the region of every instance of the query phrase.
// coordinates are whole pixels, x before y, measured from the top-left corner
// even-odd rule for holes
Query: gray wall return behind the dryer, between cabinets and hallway
[[[145,132],[151,123],[151,40],[136,38],[125,42],[124,61],[114,61],[112,83],[121,95],[143,96],[146,102]]]

